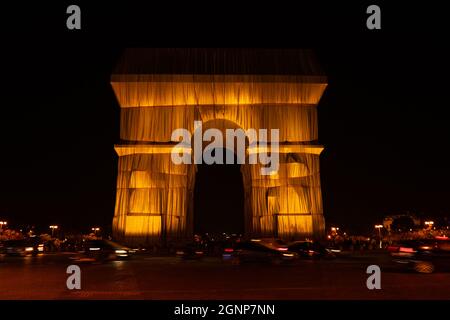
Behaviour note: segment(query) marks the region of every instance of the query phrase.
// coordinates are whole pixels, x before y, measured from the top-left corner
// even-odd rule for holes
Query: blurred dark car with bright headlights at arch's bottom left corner
[[[79,261],[105,262],[129,259],[133,250],[110,240],[89,240],[84,244]]]

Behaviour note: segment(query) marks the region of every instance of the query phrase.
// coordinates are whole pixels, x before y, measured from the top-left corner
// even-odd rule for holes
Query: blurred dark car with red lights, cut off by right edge
[[[395,263],[419,273],[450,271],[448,237],[401,241],[390,245],[388,251]]]

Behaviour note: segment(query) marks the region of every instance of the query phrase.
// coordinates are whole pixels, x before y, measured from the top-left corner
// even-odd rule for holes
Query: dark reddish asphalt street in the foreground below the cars
[[[385,254],[288,265],[232,265],[137,255],[131,260],[75,263],[71,254],[0,260],[0,299],[450,299],[450,273],[417,274]],[[66,269],[81,268],[81,289],[69,290]],[[381,289],[369,290],[369,265],[381,268]]]

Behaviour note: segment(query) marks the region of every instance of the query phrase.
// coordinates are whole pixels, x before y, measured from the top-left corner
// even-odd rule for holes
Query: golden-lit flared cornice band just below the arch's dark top
[[[314,105],[327,86],[324,77],[270,75],[115,75],[111,80],[122,108],[261,103]]]

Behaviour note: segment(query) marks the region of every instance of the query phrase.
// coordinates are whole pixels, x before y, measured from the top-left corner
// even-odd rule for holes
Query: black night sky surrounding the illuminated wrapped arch
[[[390,213],[450,215],[450,50],[433,8],[382,7],[383,29],[368,31],[364,5],[228,3],[218,16],[86,4],[77,33],[65,28],[68,4],[5,9],[1,22],[0,218],[11,225],[111,224],[119,105],[109,77],[124,47],[314,49],[329,79],[318,106],[327,223],[364,232]],[[206,202],[222,188],[224,172],[211,172]]]

